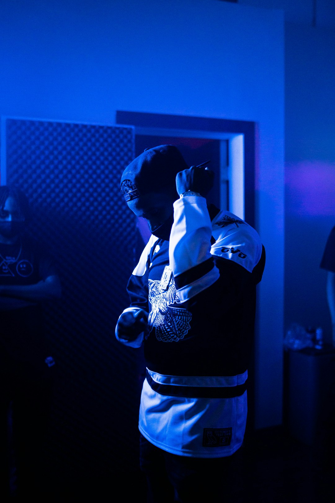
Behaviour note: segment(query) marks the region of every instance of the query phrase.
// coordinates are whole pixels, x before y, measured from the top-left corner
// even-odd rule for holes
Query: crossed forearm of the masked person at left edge
[[[60,281],[57,276],[49,276],[45,281],[33,285],[1,285],[0,296],[28,302],[58,299],[61,295]]]

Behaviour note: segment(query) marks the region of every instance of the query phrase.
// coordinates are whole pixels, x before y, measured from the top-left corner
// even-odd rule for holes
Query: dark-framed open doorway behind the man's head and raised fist
[[[116,122],[134,127],[136,155],[172,143],[189,165],[210,159],[216,180],[210,202],[255,225],[254,122],[124,111]]]

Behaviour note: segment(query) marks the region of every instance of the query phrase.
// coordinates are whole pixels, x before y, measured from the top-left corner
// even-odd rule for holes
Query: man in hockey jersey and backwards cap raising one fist
[[[173,145],[145,150],[121,179],[128,207],[152,232],[116,326],[123,344],[144,344],[139,429],[148,501],[221,501],[245,433],[265,252],[246,222],[207,205],[212,185],[213,173],[189,168]]]

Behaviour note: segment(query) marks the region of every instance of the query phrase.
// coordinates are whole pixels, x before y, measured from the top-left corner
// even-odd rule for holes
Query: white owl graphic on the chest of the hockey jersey
[[[149,302],[151,312],[146,339],[153,329],[158,341],[171,343],[184,339],[190,329],[192,315],[187,309],[172,306],[180,303],[174,280],[171,280],[167,290],[161,288],[160,281],[149,280]]]

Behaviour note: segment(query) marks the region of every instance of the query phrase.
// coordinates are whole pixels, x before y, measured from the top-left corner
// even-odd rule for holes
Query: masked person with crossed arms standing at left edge
[[[54,360],[44,337],[43,301],[60,298],[49,254],[28,236],[30,205],[0,187],[0,482],[2,500],[43,493],[43,441]]]

